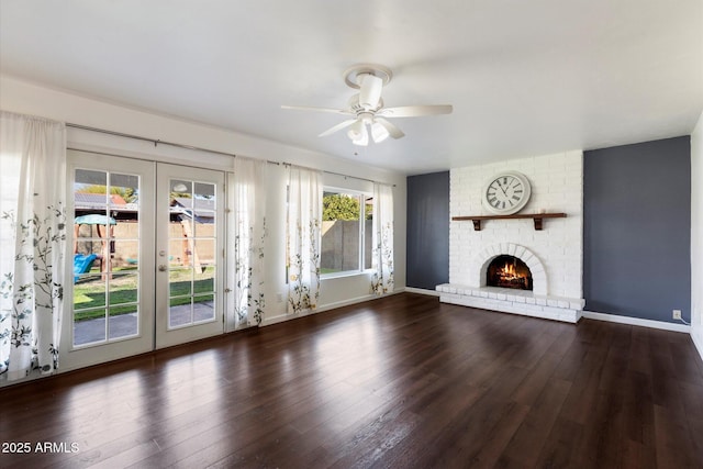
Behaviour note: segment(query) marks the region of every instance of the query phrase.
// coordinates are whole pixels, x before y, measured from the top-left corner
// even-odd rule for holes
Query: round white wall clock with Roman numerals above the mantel
[[[483,206],[498,215],[520,212],[529,200],[529,180],[517,171],[503,171],[488,180],[483,188]]]

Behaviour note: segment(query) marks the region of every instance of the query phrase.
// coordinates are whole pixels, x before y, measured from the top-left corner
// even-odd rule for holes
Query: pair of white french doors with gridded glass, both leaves
[[[68,153],[62,369],[223,332],[224,175]]]

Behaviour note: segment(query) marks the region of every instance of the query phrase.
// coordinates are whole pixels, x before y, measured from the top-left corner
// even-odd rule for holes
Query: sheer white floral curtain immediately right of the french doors
[[[264,319],[264,242],[266,238],[266,161],[234,159],[234,317],[232,328]]]

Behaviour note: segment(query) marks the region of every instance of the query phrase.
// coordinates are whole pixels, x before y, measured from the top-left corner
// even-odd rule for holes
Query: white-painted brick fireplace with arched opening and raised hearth
[[[520,212],[563,212],[566,217],[451,221],[449,283],[437,286],[440,301],[557,321],[577,322],[583,300],[583,154],[581,150],[450,170],[449,211],[454,216],[489,215],[481,205],[486,181],[504,170],[523,172],[532,197]],[[500,255],[522,259],[533,290],[487,287],[486,269]]]

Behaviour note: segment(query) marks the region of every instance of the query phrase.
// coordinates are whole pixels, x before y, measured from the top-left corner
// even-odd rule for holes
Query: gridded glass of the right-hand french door
[[[176,328],[215,319],[216,186],[181,179],[169,186],[168,327]]]

